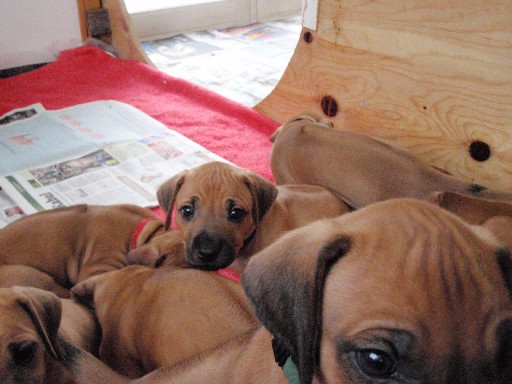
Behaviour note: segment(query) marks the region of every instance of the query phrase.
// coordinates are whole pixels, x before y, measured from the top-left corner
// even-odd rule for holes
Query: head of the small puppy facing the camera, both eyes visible
[[[168,222],[176,206],[188,263],[215,270],[235,260],[274,202],[277,188],[249,170],[211,162],[176,175],[157,195]]]

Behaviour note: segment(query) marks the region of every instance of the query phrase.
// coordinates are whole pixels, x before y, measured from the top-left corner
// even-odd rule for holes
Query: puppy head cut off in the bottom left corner
[[[42,384],[49,357],[57,354],[62,307],[51,292],[37,288],[0,288],[0,381]]]

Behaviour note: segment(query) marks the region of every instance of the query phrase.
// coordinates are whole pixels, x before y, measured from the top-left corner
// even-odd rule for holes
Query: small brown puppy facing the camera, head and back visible
[[[243,271],[248,259],[284,232],[314,220],[335,217],[349,208],[325,188],[276,187],[246,169],[211,162],[184,171],[162,184],[158,201],[187,243],[187,259],[196,268],[231,265]]]

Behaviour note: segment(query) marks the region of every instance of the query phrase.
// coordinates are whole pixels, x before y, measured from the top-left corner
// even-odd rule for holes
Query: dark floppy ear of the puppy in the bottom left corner
[[[49,291],[31,287],[13,287],[17,304],[23,308],[43,340],[48,353],[58,358],[54,343],[59,331],[62,316],[60,299]]]

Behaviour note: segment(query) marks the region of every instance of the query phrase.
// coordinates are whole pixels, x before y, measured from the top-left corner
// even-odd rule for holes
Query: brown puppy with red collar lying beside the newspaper
[[[175,238],[150,209],[77,205],[26,216],[1,229],[0,264],[36,268],[69,288],[129,262],[155,264],[169,256],[183,264],[184,256],[172,248]]]

